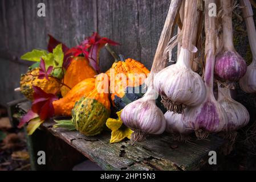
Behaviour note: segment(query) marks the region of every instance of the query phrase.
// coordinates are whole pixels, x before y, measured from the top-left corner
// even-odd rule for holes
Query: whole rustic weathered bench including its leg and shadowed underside
[[[29,108],[30,103],[27,101],[22,100],[18,104],[18,109],[25,112]],[[13,115],[11,112],[9,114]],[[86,158],[104,170],[214,169],[214,165],[210,166],[208,163],[209,151],[216,151],[218,154],[225,143],[214,135],[208,140],[193,139],[188,143],[179,143],[168,134],[163,134],[149,136],[144,142],[134,146],[129,140],[109,144],[109,131],[96,137],[86,137],[78,131],[54,128],[54,124],[54,121],[48,120],[40,130],[28,137],[32,169],[71,169]],[[40,166],[36,163],[39,150],[46,152],[47,165]]]

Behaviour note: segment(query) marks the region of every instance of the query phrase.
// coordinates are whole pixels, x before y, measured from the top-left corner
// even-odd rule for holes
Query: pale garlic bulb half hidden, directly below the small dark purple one
[[[224,131],[235,131],[249,123],[250,115],[246,107],[231,98],[230,89],[218,84],[218,103],[227,115],[227,125]]]

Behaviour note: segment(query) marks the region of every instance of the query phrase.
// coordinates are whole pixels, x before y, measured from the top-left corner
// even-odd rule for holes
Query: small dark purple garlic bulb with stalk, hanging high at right
[[[224,50],[216,57],[214,73],[223,82],[238,81],[245,75],[247,68],[245,60],[235,51],[233,44],[232,2],[221,1]]]

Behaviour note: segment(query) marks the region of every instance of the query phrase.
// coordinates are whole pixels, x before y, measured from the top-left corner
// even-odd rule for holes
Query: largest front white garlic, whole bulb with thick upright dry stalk
[[[162,69],[155,75],[154,88],[162,96],[162,103],[166,109],[174,113],[182,113],[184,106],[197,106],[204,101],[206,92],[204,81],[193,72],[190,61],[192,46],[197,28],[197,1],[185,2],[185,18],[182,27],[182,47],[176,64]]]

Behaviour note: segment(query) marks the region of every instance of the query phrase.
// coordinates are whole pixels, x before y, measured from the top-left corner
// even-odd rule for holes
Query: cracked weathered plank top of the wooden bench
[[[18,107],[27,111],[30,102]],[[208,163],[209,151],[218,151],[224,140],[211,136],[208,140],[180,143],[168,134],[149,136],[134,146],[129,140],[109,144],[111,131],[86,137],[78,131],[54,128],[52,120],[42,124],[43,130],[70,144],[81,154],[105,170],[197,170]]]

